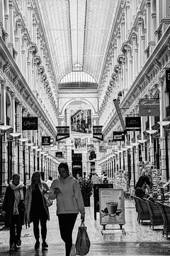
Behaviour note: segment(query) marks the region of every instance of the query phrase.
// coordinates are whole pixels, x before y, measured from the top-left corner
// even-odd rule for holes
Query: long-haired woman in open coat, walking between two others
[[[26,191],[26,218],[28,225],[33,222],[33,233],[35,236],[35,250],[40,248],[40,230],[41,225],[42,249],[47,249],[47,220],[50,220],[49,210],[45,204],[43,195],[48,193],[49,188],[45,181],[40,178],[40,171],[35,171],[31,177],[31,183]]]

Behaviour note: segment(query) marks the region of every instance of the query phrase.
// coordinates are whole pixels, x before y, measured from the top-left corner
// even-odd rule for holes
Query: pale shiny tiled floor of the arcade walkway
[[[104,255],[170,255],[170,240],[162,236],[162,225],[159,230],[152,230],[148,223],[145,225],[137,223],[137,213],[135,205],[130,201],[125,201],[125,225],[120,230],[119,225],[107,225],[106,230],[101,233],[102,226],[99,221],[94,220],[94,198],[91,197],[91,207],[86,208],[87,232],[91,240],[89,256]],[[64,244],[60,238],[57,216],[55,215],[55,202],[50,207],[50,221],[47,223],[47,242],[49,249],[47,251],[39,250],[35,252],[33,237],[33,225],[22,231],[22,245],[16,252],[8,252],[8,230],[0,231],[0,256],[4,255],[47,255],[64,256]],[[74,227],[73,241],[77,238],[77,230],[81,223],[80,216]],[[111,228],[111,229],[110,229]],[[125,230],[125,232],[123,232]]]

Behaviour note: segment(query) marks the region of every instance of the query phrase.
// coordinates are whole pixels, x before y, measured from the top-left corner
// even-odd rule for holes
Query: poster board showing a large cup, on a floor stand
[[[122,188],[99,190],[100,224],[125,224],[125,198]]]

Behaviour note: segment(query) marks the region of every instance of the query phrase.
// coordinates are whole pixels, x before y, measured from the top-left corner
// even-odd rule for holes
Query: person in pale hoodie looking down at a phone
[[[49,196],[52,200],[56,198],[60,235],[65,242],[66,256],[69,256],[72,249],[72,231],[78,213],[81,213],[81,221],[84,222],[84,201],[79,182],[69,176],[68,164],[60,163],[58,171],[60,177],[52,181]]]

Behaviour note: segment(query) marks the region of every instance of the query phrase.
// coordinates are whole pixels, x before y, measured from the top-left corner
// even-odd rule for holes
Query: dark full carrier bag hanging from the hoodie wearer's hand
[[[86,255],[89,252],[91,242],[86,232],[86,226],[81,223],[76,240],[76,255]]]

